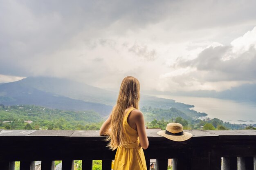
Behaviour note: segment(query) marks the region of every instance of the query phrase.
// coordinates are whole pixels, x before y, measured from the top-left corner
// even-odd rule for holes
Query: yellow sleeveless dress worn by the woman
[[[117,148],[114,170],[147,170],[144,152],[139,144],[138,132],[127,122],[128,115],[134,109],[128,110],[123,120],[124,132],[128,143]]]

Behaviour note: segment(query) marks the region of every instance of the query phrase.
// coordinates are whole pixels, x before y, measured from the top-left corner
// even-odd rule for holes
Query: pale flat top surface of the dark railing
[[[160,129],[146,129],[148,139],[160,140],[164,137],[157,135]],[[193,134],[192,139],[211,137],[211,139],[256,138],[256,130],[184,130]],[[102,137],[99,130],[4,130],[0,129],[0,140],[14,136],[34,137]],[[159,138],[159,139],[157,139]]]

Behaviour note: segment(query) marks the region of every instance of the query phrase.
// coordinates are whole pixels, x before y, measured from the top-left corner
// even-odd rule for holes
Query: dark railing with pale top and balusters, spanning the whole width
[[[157,170],[167,170],[169,158],[173,170],[256,170],[256,130],[185,130],[193,137],[184,142],[157,131],[147,129],[148,170],[150,159],[156,159]],[[0,130],[0,170],[14,170],[14,161],[20,161],[20,170],[33,170],[34,161],[42,161],[42,170],[53,170],[54,160],[62,160],[62,170],[72,170],[74,160],[91,170],[92,160],[99,159],[102,170],[111,170],[115,151],[104,139],[97,130]]]

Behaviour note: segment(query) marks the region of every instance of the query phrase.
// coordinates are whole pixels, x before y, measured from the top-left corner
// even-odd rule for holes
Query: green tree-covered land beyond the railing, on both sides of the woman
[[[171,122],[182,124],[184,129],[229,130],[256,129],[254,126],[230,124],[220,119],[204,120],[190,117],[177,108],[142,107],[148,128],[165,129]],[[99,130],[103,118],[92,110],[65,111],[33,105],[4,106],[0,104],[0,128],[2,129],[54,129]]]

